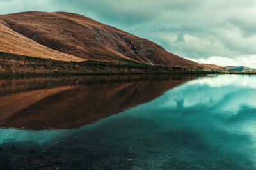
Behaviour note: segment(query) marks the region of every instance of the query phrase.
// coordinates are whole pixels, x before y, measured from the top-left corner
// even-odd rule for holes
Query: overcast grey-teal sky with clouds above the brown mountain
[[[221,66],[256,68],[256,0],[0,0],[0,13],[81,13],[166,50]]]

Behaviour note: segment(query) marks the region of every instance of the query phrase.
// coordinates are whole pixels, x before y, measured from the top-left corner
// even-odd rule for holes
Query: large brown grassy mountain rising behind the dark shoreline
[[[44,58],[52,56],[63,60],[67,60],[72,55],[86,60],[108,62],[130,60],[168,67],[202,68],[200,64],[169,53],[152,41],[138,38],[83,15],[33,11],[0,15],[0,20],[2,20],[1,27],[4,27],[1,31],[0,51],[2,52]],[[12,38],[8,38],[4,33],[7,31],[12,32]],[[6,41],[5,38],[8,39],[8,45],[3,43]],[[28,41],[27,46],[22,43],[24,41]],[[49,48],[53,49],[51,55],[44,53],[48,52]],[[37,55],[36,50],[38,50]],[[68,59],[77,60],[71,57]]]

